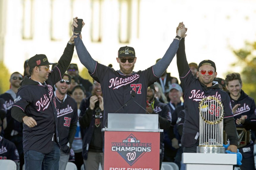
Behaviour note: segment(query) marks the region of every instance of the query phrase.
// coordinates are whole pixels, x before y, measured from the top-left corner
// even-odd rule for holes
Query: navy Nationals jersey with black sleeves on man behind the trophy
[[[230,98],[225,91],[218,87],[218,82],[213,82],[213,86],[207,88],[191,73],[191,70],[188,66],[188,61],[185,56],[184,38],[182,38],[179,44],[179,49],[177,51],[177,66],[181,85],[185,89],[184,105],[186,114],[183,125],[181,144],[185,147],[191,147],[199,139],[199,102],[202,100],[202,98],[207,96],[218,98],[223,104],[224,119],[233,117],[234,115],[231,109]],[[209,108],[213,109],[214,112],[216,111],[215,105],[210,106]],[[237,145],[237,141],[231,140],[231,138],[229,139],[230,144]]]

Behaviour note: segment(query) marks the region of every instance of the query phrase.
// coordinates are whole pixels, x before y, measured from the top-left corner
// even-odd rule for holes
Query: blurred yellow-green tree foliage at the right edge
[[[242,66],[241,77],[243,90],[250,97],[256,99],[256,42],[246,42],[245,46],[238,50],[233,50],[238,58],[238,62],[232,66]]]

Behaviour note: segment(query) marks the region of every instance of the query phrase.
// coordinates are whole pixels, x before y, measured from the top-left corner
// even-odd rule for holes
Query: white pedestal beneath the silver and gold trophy
[[[182,153],[186,170],[233,170],[236,154],[224,153]]]

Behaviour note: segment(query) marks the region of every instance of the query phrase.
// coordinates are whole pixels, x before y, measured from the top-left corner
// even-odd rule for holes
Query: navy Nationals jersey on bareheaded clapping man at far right
[[[235,120],[240,119],[242,115],[246,115],[246,120],[254,122],[254,124],[256,125],[256,108],[255,101],[253,98],[249,97],[246,93],[244,93],[243,90],[241,90],[241,96],[238,98],[238,100],[234,100],[230,97],[230,101],[232,108],[236,104],[240,104],[240,106],[238,106],[236,112],[234,113]],[[252,127],[248,127],[248,125],[246,126],[246,124],[235,125],[238,128],[246,128],[247,130],[252,129]]]

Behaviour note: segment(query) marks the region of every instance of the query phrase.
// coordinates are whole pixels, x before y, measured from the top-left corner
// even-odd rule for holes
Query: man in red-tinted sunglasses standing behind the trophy
[[[179,23],[177,30],[184,29],[185,25]],[[186,29],[187,30],[187,29]],[[185,53],[185,36],[181,39],[177,51],[177,67],[181,85],[184,89],[185,122],[181,144],[184,146],[184,152],[196,153],[196,147],[199,145],[199,102],[207,96],[214,96],[221,100],[224,107],[224,127],[230,140],[230,146],[227,150],[237,152],[238,138],[234,122],[234,115],[230,107],[230,98],[228,94],[221,90],[218,82],[213,81],[217,76],[216,65],[211,60],[203,60],[198,65],[196,79],[191,69]],[[216,107],[216,106],[209,106]]]

